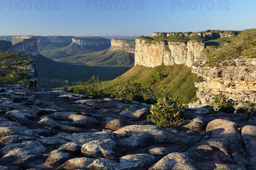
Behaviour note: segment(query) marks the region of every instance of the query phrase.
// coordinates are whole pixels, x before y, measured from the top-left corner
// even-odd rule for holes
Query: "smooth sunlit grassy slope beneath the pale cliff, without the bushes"
[[[168,77],[163,79],[159,84],[165,84],[167,86],[166,89],[172,88],[172,95],[176,96],[178,94],[181,102],[189,103],[197,100],[195,93],[197,88],[195,88],[194,82],[198,77],[191,72],[191,68],[186,67],[185,65],[161,65],[155,68],[145,68],[136,65],[122,76],[104,82],[104,88],[106,91],[111,91],[117,82],[125,82],[127,80],[140,82],[145,87],[146,83],[150,81],[151,75],[157,72],[168,74]]]

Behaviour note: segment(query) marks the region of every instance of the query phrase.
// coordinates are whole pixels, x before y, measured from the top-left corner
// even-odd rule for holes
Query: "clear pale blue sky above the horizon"
[[[256,0],[0,0],[0,35],[151,35],[256,28]]]

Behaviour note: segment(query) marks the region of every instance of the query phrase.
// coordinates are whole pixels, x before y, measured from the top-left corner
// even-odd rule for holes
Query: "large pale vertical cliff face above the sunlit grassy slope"
[[[147,43],[145,40],[136,39],[135,65],[155,67],[157,65],[185,64],[192,66],[198,60],[204,43],[188,41],[183,42],[155,42]]]

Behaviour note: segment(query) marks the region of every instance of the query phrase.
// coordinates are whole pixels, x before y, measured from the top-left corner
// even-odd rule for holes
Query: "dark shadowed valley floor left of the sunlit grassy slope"
[[[59,63],[42,55],[32,58],[35,59],[38,83],[41,88],[61,87],[64,85],[65,80],[69,80],[70,85],[72,85],[79,80],[86,81],[93,75],[98,75],[101,80],[111,80],[129,70],[129,68],[125,67],[114,68]]]

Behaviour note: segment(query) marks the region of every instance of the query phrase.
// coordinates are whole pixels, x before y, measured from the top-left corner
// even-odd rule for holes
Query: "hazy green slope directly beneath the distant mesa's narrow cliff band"
[[[51,50],[41,51],[40,53],[49,59],[58,59],[63,57],[74,56],[84,53],[92,53],[95,51],[100,51],[109,48],[110,45],[77,45],[76,43],[71,43],[70,45],[62,48],[55,48]]]

